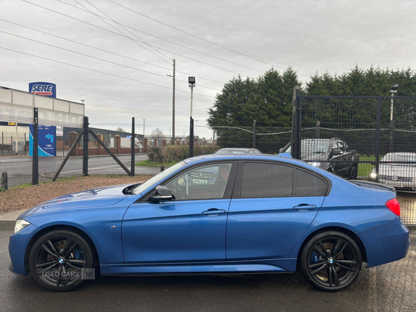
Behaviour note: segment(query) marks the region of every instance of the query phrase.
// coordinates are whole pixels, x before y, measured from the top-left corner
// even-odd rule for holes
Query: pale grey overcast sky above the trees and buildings
[[[413,68],[415,16],[415,1],[1,0],[0,86],[55,83],[58,98],[85,100],[91,123],[168,125],[175,59],[176,124],[189,123],[196,76],[193,117],[204,125],[238,73],[292,66],[305,83],[356,64]]]

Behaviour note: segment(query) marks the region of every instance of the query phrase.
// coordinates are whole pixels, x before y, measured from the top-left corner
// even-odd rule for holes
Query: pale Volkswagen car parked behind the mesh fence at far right
[[[416,162],[416,153],[388,153],[381,158],[379,182],[389,184],[395,189],[416,191],[416,164],[400,162]],[[370,172],[370,180],[376,180],[375,168]]]

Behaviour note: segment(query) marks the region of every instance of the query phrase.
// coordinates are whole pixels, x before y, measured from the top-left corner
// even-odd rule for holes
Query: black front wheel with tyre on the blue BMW
[[[33,244],[28,264],[31,275],[49,291],[72,291],[94,270],[94,254],[88,239],[73,229],[56,229]],[[94,272],[95,274],[95,272]]]

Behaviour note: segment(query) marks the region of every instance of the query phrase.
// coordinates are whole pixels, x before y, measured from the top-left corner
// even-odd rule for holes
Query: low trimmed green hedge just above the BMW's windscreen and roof
[[[193,155],[212,154],[219,148],[219,146],[193,146]],[[189,157],[189,146],[153,146],[148,149],[147,155],[152,162],[157,162],[159,164],[164,164],[166,162],[180,162]]]

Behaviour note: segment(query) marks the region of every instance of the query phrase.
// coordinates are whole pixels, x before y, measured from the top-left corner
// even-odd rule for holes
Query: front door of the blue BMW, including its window
[[[225,260],[232,162],[185,168],[164,183],[174,200],[131,205],[123,218],[125,263]]]

